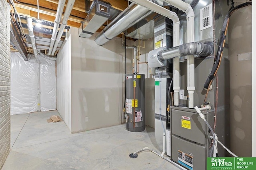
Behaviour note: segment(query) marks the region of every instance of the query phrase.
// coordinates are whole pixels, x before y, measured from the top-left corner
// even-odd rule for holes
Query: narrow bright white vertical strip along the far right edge
[[[256,94],[256,1],[252,1],[252,94]],[[256,157],[256,96],[252,95],[252,157]]]

